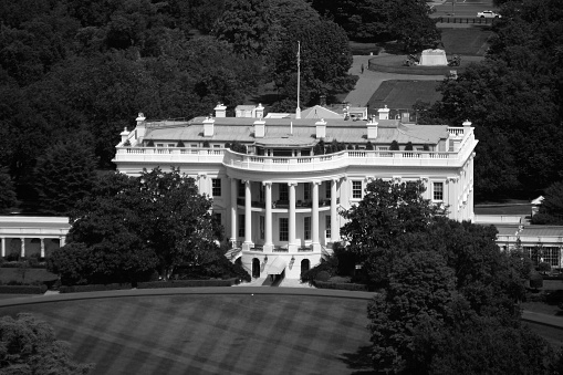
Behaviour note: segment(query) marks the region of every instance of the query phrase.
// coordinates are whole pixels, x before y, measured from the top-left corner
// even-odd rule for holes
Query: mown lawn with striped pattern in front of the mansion
[[[369,374],[365,300],[174,295],[2,308],[32,312],[93,374]]]

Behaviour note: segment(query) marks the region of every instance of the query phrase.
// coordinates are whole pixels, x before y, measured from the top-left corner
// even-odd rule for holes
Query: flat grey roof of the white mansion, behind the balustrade
[[[183,140],[183,142],[241,142],[259,143],[263,145],[314,145],[316,143],[315,124],[321,119],[313,118],[264,118],[265,136],[254,137],[254,122],[257,118],[218,117],[215,118],[213,136],[204,136],[204,121],[196,117],[183,123],[149,123],[145,139]],[[367,143],[367,123],[352,122],[344,118],[324,118],[326,123],[325,142],[336,139],[342,143]],[[372,143],[399,144],[437,144],[448,138],[447,125],[405,125],[397,119],[378,119],[377,138]]]

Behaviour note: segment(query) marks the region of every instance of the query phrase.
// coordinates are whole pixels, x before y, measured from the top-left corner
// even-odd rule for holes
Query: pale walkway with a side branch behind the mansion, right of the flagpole
[[[355,55],[354,62],[348,73],[358,75],[359,80],[356,86],[352,90],[344,102],[350,103],[351,106],[366,106],[372,95],[379,88],[383,81],[389,80],[411,80],[411,81],[442,81],[444,75],[416,75],[416,74],[397,74],[374,72],[367,70],[367,62],[374,56],[369,55]],[[364,64],[364,73],[362,73],[362,64]]]

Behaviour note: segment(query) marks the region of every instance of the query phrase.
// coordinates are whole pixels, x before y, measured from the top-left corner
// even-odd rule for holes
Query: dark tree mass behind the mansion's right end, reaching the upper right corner
[[[421,117],[473,123],[476,199],[535,198],[563,177],[563,2],[503,2],[486,61],[445,81]]]

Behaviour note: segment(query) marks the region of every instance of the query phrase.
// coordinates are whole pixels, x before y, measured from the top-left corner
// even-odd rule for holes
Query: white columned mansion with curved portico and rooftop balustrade
[[[409,125],[378,116],[352,121],[321,106],[296,114],[261,105],[226,116],[147,121],[125,129],[114,163],[121,173],[179,168],[213,199],[213,215],[231,244],[227,256],[253,277],[298,279],[341,241],[338,215],[362,200],[376,178],[421,180],[425,198],[473,220],[470,122],[460,127]]]

